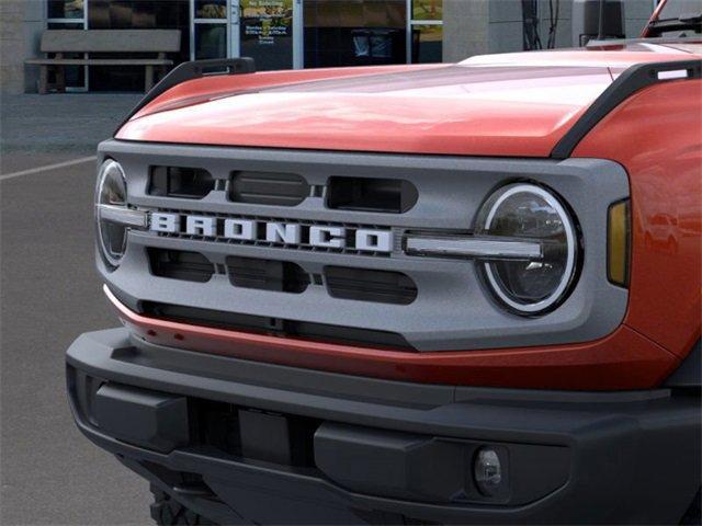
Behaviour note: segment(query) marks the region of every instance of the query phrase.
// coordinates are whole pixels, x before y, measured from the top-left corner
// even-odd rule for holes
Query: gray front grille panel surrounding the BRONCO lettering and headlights
[[[616,329],[626,311],[627,291],[607,279],[608,206],[629,197],[626,172],[611,161],[412,157],[116,140],[101,145],[100,161],[105,157],[123,165],[128,202],[141,209],[385,229],[393,233],[389,254],[374,254],[132,230],[123,263],[114,271],[101,261],[98,265],[105,282],[134,310],[148,301],[225,316],[230,312],[303,325],[346,327],[369,334],[392,333],[422,352],[590,341]],[[149,167],[154,165],[206,170],[218,183],[202,199],[149,195]],[[227,192],[235,172],[299,174],[310,191],[296,206],[237,203]],[[383,213],[374,207],[332,209],[327,206],[325,195],[335,176],[407,181],[416,187],[418,197],[401,214]],[[578,283],[558,309],[540,318],[505,311],[486,294],[473,261],[408,255],[403,248],[403,236],[408,230],[469,232],[487,196],[514,181],[551,187],[569,204],[581,228],[585,256]],[[354,208],[363,207],[354,203]],[[206,283],[170,279],[149,272],[149,248],[196,252],[216,268],[225,268],[227,258],[231,256],[290,262],[312,279],[299,294],[233,287],[226,272],[216,272]],[[335,293],[332,283],[330,294],[324,278],[329,266],[367,271],[366,276],[373,276],[373,271],[403,274],[416,287],[416,297],[409,304],[404,301],[407,305],[400,305],[399,300],[381,302],[373,300],[374,288],[365,294],[351,294],[347,286],[350,282],[343,284],[341,294],[338,289]]]

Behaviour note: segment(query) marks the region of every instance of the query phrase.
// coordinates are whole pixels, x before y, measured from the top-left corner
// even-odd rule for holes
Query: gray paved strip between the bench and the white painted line
[[[0,98],[0,173],[92,156],[141,99],[138,93]]]

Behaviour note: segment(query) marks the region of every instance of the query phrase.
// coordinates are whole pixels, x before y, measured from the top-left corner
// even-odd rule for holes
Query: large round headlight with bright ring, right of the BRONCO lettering
[[[574,221],[555,195],[534,184],[505,186],[483,207],[478,230],[542,245],[539,258],[483,263],[489,288],[502,304],[533,316],[565,299],[576,272],[578,241]]]

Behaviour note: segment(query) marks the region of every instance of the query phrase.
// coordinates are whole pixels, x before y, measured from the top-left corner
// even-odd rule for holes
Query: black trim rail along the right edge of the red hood
[[[637,64],[612,82],[551,152],[552,159],[567,159],[580,140],[609,113],[639,90],[672,80],[702,79],[702,60]]]

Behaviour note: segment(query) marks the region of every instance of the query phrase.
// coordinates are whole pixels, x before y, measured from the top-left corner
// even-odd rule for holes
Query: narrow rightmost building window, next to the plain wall
[[[443,56],[443,0],[409,0],[408,61],[441,62]]]

